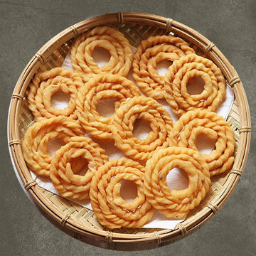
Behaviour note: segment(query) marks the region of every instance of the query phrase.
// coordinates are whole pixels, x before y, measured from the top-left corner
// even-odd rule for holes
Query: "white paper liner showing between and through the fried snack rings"
[[[133,52],[136,51],[136,48],[133,47]],[[106,52],[106,50],[102,50],[101,48],[96,48],[93,53],[93,58],[96,60],[99,67],[102,65],[105,65],[109,58],[109,53]],[[68,68],[70,70],[73,70],[73,66],[71,65],[70,60],[70,53],[66,56],[64,62],[63,62],[63,68]],[[166,73],[168,69],[168,62],[161,62],[159,65],[157,65],[157,71],[159,75],[163,75]],[[133,80],[132,78],[132,72],[130,72],[127,75],[127,78],[129,80]],[[136,84],[134,82],[134,84]],[[142,92],[142,95],[144,93]],[[225,100],[220,104],[218,109],[215,111],[218,115],[222,116],[224,119],[227,119],[228,113],[230,112],[230,108],[232,107],[234,100],[234,92],[233,89],[228,85],[226,87],[226,97]],[[97,109],[99,109],[100,114],[104,114],[105,116],[110,116],[112,114],[113,107],[110,106],[110,102],[106,104],[107,101],[99,102],[97,105]],[[169,107],[169,104],[165,100],[158,100],[161,105],[169,112],[171,115],[171,119],[173,122],[176,122],[178,120],[178,117],[174,112],[171,111],[171,108]],[[52,103],[55,108],[61,108],[67,107],[68,105],[68,98],[66,96],[63,96],[62,93],[57,93],[52,98]],[[150,131],[149,126],[146,124],[146,122],[143,122],[143,120],[139,120],[139,124],[134,127],[134,135],[139,137],[139,139],[144,139],[147,137],[148,132]],[[87,134],[86,134],[87,135]],[[88,135],[89,136],[89,135]],[[90,136],[89,136],[90,137]],[[93,138],[92,138],[93,139]],[[95,139],[94,139],[95,140]],[[106,154],[110,157],[110,159],[119,158],[124,156],[117,147],[114,146],[114,142],[107,142],[107,143],[101,143],[95,140],[95,142],[99,143],[102,148],[105,149]],[[61,145],[54,144],[53,142],[49,145],[52,152],[51,154],[54,154],[54,151],[58,149]],[[210,152],[214,149],[214,144],[210,142],[207,139],[201,139],[197,142],[198,149],[201,151],[202,154],[210,154]],[[36,181],[39,186],[42,188],[45,188],[46,190],[53,192],[57,195],[60,195],[58,191],[54,188],[53,183],[51,183],[50,178],[45,178],[41,176],[36,176],[31,171],[31,176],[33,178],[36,178]],[[184,189],[188,186],[188,177],[186,176],[186,173],[184,174],[183,171],[180,171],[178,169],[172,169],[169,174],[166,177],[166,182],[169,184],[169,187],[171,189]],[[134,189],[134,186],[130,186],[129,184],[125,184],[125,189],[122,190],[122,197],[125,198],[127,201],[132,201],[131,195],[134,198],[134,195],[136,195],[136,188]],[[127,192],[127,193],[126,193]],[[84,206],[86,208],[89,208],[92,210],[92,207],[90,205],[90,200],[87,199],[85,201],[77,201],[68,198],[70,201],[74,201],[75,203],[80,204],[81,206]],[[157,210],[154,214],[154,217],[151,219],[149,223],[143,226],[143,228],[168,228],[170,230],[174,230],[176,225],[180,222],[182,222],[185,218],[182,219],[168,219],[165,217],[165,215],[159,213]]]

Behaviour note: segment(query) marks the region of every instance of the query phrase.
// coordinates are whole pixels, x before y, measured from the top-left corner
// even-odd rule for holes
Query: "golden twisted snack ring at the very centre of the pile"
[[[149,122],[151,132],[146,139],[134,137],[136,119]],[[147,160],[154,151],[169,146],[173,122],[169,113],[150,97],[133,97],[121,104],[113,115],[111,130],[114,144],[135,160]]]

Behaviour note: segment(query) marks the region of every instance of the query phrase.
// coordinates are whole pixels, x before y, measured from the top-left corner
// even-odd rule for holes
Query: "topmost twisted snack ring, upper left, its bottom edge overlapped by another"
[[[95,48],[110,52],[110,60],[101,68],[92,58]],[[124,35],[109,26],[98,26],[82,33],[71,46],[71,63],[76,72],[87,82],[95,74],[112,73],[126,76],[132,66],[132,46]]]

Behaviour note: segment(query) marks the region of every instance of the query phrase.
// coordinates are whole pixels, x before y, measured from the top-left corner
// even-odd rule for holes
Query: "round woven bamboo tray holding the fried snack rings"
[[[228,114],[228,122],[235,132],[236,140],[233,169],[211,178],[212,183],[206,198],[174,230],[146,228],[103,230],[92,210],[38,186],[31,178],[23,159],[21,141],[26,129],[33,124],[33,116],[28,110],[25,97],[28,83],[38,69],[47,70],[61,66],[75,36],[100,25],[114,26],[124,33],[134,47],[149,36],[174,33],[191,43],[191,47],[198,55],[213,60],[222,70],[229,85],[233,87],[235,100]],[[146,250],[168,245],[193,233],[218,213],[228,200],[245,167],[250,146],[250,112],[245,91],[235,69],[214,43],[200,33],[171,18],[137,13],[105,14],[70,26],[48,41],[33,56],[21,73],[11,97],[8,132],[11,159],[18,179],[28,196],[48,220],[65,233],[91,245],[112,250]]]

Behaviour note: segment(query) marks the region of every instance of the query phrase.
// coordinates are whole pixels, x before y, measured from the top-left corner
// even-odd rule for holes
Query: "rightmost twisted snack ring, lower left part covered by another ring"
[[[235,137],[233,129],[223,117],[208,110],[191,110],[183,114],[171,131],[171,145],[196,149],[196,139],[203,134],[216,140],[215,149],[203,154],[210,168],[210,175],[222,174],[233,164]]]

